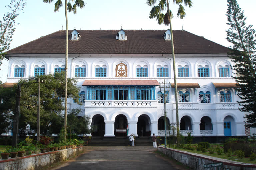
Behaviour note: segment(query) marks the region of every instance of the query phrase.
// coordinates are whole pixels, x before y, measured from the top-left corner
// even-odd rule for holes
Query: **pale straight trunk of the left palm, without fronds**
[[[67,136],[67,94],[68,94],[68,14],[67,0],[65,0],[65,16],[66,16],[66,57],[65,57],[65,111],[64,111],[64,137]]]

